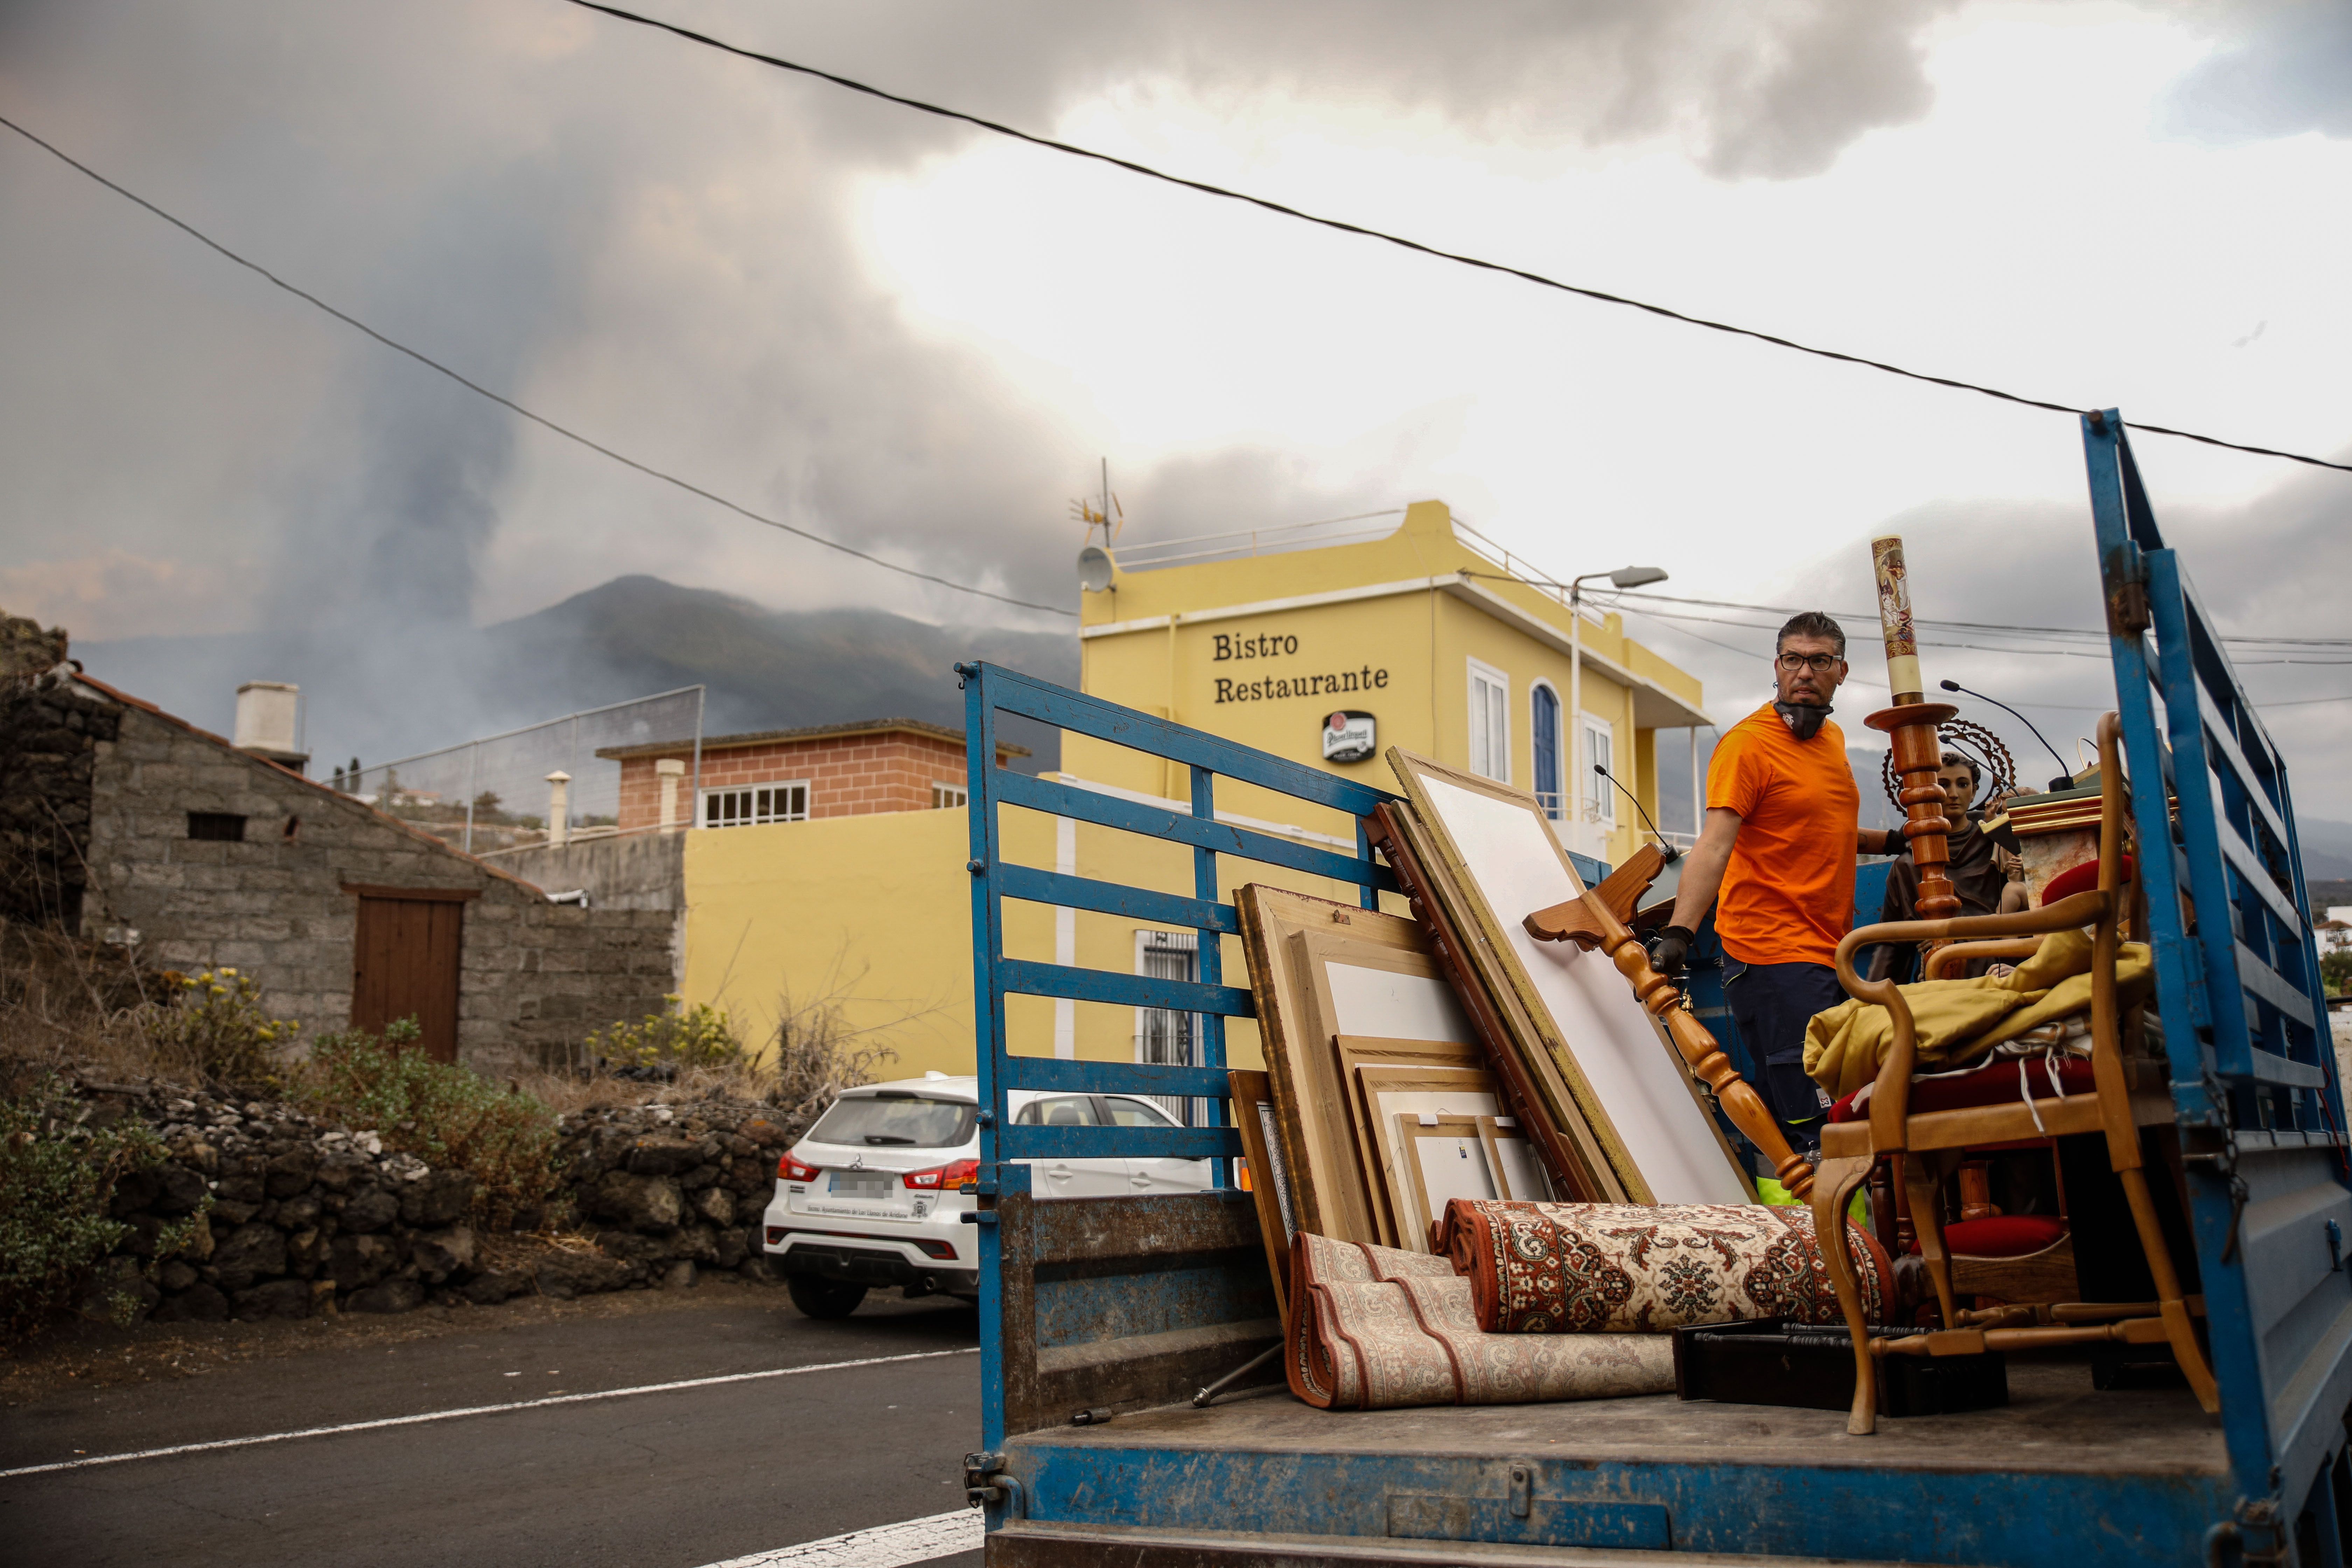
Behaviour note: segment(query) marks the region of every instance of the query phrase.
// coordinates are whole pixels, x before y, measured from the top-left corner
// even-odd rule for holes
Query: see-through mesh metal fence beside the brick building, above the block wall
[[[597,752],[661,743],[677,745],[689,769],[680,802],[687,825],[701,788],[703,686],[583,708],[395,762],[353,757],[327,783],[468,853],[494,853],[546,844],[555,816],[564,839],[621,832],[621,762]]]

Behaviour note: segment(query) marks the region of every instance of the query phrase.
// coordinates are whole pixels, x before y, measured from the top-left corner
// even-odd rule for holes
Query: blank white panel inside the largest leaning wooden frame
[[[1656,1199],[1752,1204],[1625,976],[1602,952],[1585,952],[1576,943],[1538,943],[1519,924],[1534,910],[1566,903],[1581,891],[1559,863],[1543,818],[1444,778],[1425,773],[1423,783],[1510,950]]]

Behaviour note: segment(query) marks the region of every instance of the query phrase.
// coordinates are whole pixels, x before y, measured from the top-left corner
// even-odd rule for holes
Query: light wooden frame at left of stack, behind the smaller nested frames
[[[1235,889],[1232,907],[1258,1004],[1258,1044],[1275,1105],[1275,1143],[1291,1182],[1291,1218],[1317,1237],[1378,1244],[1381,1225],[1348,1117],[1348,1086],[1331,1053],[1331,1034],[1341,1032],[1331,1020],[1355,1016],[1362,999],[1345,985],[1334,990],[1331,976],[1317,978],[1317,971],[1336,961],[1395,976],[1414,990],[1444,987],[1425,933],[1399,914],[1258,882]],[[1329,940],[1294,943],[1294,936]]]

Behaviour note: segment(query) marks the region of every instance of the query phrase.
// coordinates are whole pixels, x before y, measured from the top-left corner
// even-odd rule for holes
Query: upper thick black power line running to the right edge
[[[748,59],[748,61],[757,61],[762,66],[774,66],[776,71],[793,71],[797,75],[816,78],[818,82],[833,82],[835,87],[844,87],[849,92],[861,92],[868,99],[882,99],[884,103],[896,103],[901,108],[913,108],[913,110],[924,113],[924,115],[938,115],[941,120],[957,120],[962,125],[971,125],[976,129],[983,129],[983,132],[990,132],[990,134],[997,134],[997,136],[1011,136],[1014,141],[1025,141],[1030,146],[1047,148],[1049,153],[1068,153],[1070,158],[1084,158],[1089,162],[1110,165],[1112,169],[1124,169],[1127,174],[1141,174],[1143,179],[1157,179],[1157,181],[1169,183],[1169,186],[1181,186],[1185,190],[1197,190],[1200,195],[1214,195],[1218,200],[1242,202],[1247,207],[1258,207],[1261,212],[1272,212],[1272,214],[1284,216],[1284,219],[1298,219],[1301,223],[1317,223],[1322,228],[1336,228],[1343,235],[1357,235],[1357,237],[1364,237],[1364,240],[1378,240],[1383,244],[1395,244],[1395,247],[1416,252],[1421,256],[1435,256],[1437,261],[1454,261],[1458,266],[1477,268],[1482,273],[1501,273],[1505,277],[1517,277],[1519,282],[1531,282],[1531,284],[1536,284],[1541,289],[1557,289],[1562,294],[1578,294],[1583,299],[1592,299],[1592,301],[1604,303],[1604,306],[1625,306],[1628,310],[1646,310],[1649,315],[1661,315],[1661,317],[1665,317],[1670,322],[1682,322],[1684,327],[1705,327],[1708,331],[1726,331],[1731,336],[1755,339],[1757,343],[1771,343],[1773,348],[1790,348],[1790,350],[1802,353],[1802,355],[1813,355],[1816,360],[1837,360],[1839,364],[1860,364],[1863,369],[1884,371],[1889,376],[1903,376],[1905,381],[1926,381],[1929,386],[1947,386],[1947,388],[1952,388],[1957,393],[1978,393],[1983,397],[1997,397],[2002,402],[2016,402],[2016,404],[2023,404],[2027,409],[2049,409],[2051,414],[2089,414],[2091,411],[2091,409],[2077,409],[2077,407],[2065,404],[2065,402],[2051,402],[2046,397],[2025,397],[2023,393],[2004,393],[2002,388],[1983,386],[1983,383],[1976,383],[1976,381],[1959,381],[1955,376],[1931,376],[1929,371],[1905,369],[1900,364],[1889,364],[1886,360],[1870,360],[1865,355],[1849,355],[1849,353],[1839,353],[1835,348],[1818,348],[1813,343],[1799,343],[1797,339],[1783,339],[1783,336],[1776,336],[1771,331],[1757,331],[1755,327],[1736,327],[1733,322],[1717,322],[1717,320],[1708,320],[1703,315],[1689,315],[1689,313],[1675,310],[1670,306],[1653,306],[1649,301],[1630,299],[1625,294],[1611,294],[1606,289],[1588,289],[1583,284],[1562,282],[1557,277],[1545,277],[1543,273],[1531,273],[1526,268],[1505,266],[1501,261],[1486,261],[1482,256],[1470,256],[1465,252],[1449,252],[1449,249],[1442,249],[1437,244],[1423,244],[1421,240],[1406,240],[1404,235],[1392,235],[1385,228],[1367,228],[1364,223],[1350,223],[1345,219],[1327,219],[1322,214],[1303,212],[1298,207],[1289,207],[1284,202],[1275,202],[1275,200],[1268,200],[1263,195],[1249,195],[1247,190],[1232,190],[1228,186],[1214,186],[1214,183],[1202,181],[1202,179],[1185,179],[1183,174],[1169,174],[1167,169],[1155,169],[1155,167],[1150,167],[1145,162],[1136,162],[1131,158],[1117,158],[1112,153],[1098,153],[1094,148],[1082,148],[1082,146],[1070,143],[1070,141],[1056,141],[1051,136],[1040,136],[1035,132],[1023,132],[1023,129],[1004,125],[1000,120],[985,120],[981,115],[971,115],[971,113],[964,113],[960,108],[948,108],[943,103],[927,103],[922,99],[910,99],[906,94],[887,92],[882,87],[875,87],[870,82],[861,82],[856,78],[837,75],[833,71],[821,71],[816,66],[802,66],[800,61],[783,59],[781,54],[762,54],[757,49],[746,49],[743,45],[731,45],[724,38],[713,38],[710,33],[696,33],[694,28],[682,28],[675,21],[661,21],[659,16],[642,16],[637,12],[623,12],[616,5],[600,5],[600,0],[572,0],[572,5],[579,5],[581,9],[590,9],[590,12],[602,12],[604,16],[614,16],[616,21],[633,21],[633,24],[644,26],[644,28],[656,28],[661,33],[673,33],[677,38],[684,38],[687,42],[706,45],[710,49],[720,49],[724,54],[734,54],[734,56],[741,56],[741,59]],[[2218,435],[2199,435],[2194,430],[2176,430],[2171,425],[2143,425],[2138,421],[2129,421],[2129,423],[2131,423],[2133,430],[2145,430],[2147,435],[2173,435],[2178,440],[2201,442],[2206,447],[2225,447],[2230,451],[2251,451],[2251,454],[2265,456],[2265,458],[2286,458],[2288,463],[2310,463],[2312,468],[2333,468],[2338,473],[2352,473],[2352,463],[2331,463],[2328,458],[2314,458],[2314,456],[2307,456],[2307,454],[2300,454],[2300,451],[2279,451],[2277,447],[2251,447],[2246,442],[2225,442]]]

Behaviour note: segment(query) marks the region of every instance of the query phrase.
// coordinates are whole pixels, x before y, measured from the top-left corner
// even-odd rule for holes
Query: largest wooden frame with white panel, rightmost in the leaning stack
[[[1534,1025],[1628,1199],[1752,1204],[1748,1171],[1682,1053],[1616,966],[1526,931],[1526,914],[1585,893],[1536,797],[1402,748],[1388,750],[1388,764],[1444,870],[1449,900],[1461,900],[1454,919],[1477,926],[1491,987]]]

